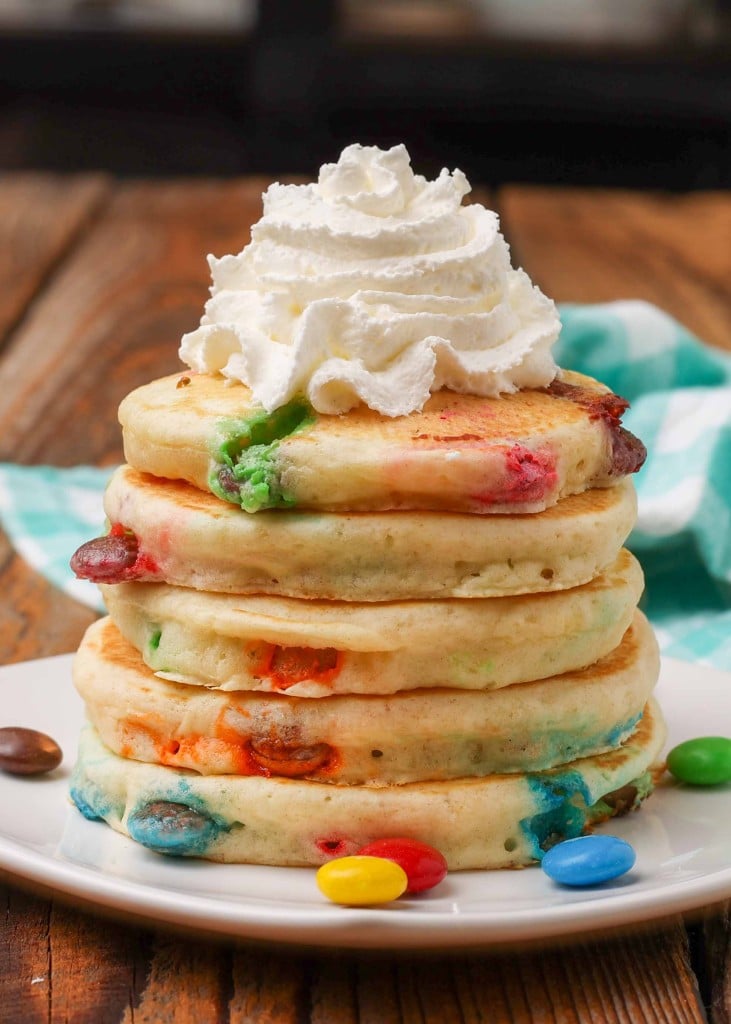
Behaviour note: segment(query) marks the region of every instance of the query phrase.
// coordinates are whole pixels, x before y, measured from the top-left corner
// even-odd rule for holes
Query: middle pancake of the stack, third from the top
[[[319,697],[492,689],[583,668],[617,646],[642,586],[622,549],[583,587],[521,597],[356,603],[139,583],[101,592],[115,625],[165,679]]]

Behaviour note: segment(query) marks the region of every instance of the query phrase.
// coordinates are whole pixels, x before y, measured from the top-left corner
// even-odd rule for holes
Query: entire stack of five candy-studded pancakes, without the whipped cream
[[[73,559],[110,612],[75,662],[79,809],[160,852],[406,836],[471,868],[639,806],[664,734],[625,407],[567,373],[390,420],[216,375],[132,392]]]

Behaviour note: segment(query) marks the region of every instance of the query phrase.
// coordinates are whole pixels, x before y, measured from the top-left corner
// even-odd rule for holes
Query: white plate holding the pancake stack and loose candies
[[[85,820],[67,797],[82,721],[71,655],[0,669],[0,726],[54,736],[66,751],[48,776],[0,773],[0,867],[103,907],[198,930],[352,948],[456,948],[568,935],[688,910],[731,896],[731,785],[669,782],[639,814],[606,830],[637,864],[593,889],[565,889],[535,867],[463,871],[386,907],[335,906],[309,868],[165,858]],[[670,745],[731,736],[731,675],[665,659],[658,696]]]

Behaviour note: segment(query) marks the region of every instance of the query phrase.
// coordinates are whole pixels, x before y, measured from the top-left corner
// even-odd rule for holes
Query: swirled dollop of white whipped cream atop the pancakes
[[[497,214],[460,170],[415,174],[403,145],[349,145],[315,183],[274,183],[238,256],[209,256],[211,298],[182,338],[192,370],[247,384],[267,412],[384,416],[432,391],[497,396],[556,374],[556,307],[510,264]]]

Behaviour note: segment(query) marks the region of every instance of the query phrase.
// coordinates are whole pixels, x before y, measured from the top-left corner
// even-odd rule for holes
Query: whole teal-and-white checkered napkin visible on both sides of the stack
[[[625,423],[647,444],[630,547],[647,580],[643,607],[664,653],[731,670],[731,357],[644,302],[561,308],[556,358],[632,402]],[[69,558],[102,531],[109,470],[0,465],[0,519],[26,560],[100,607]]]

